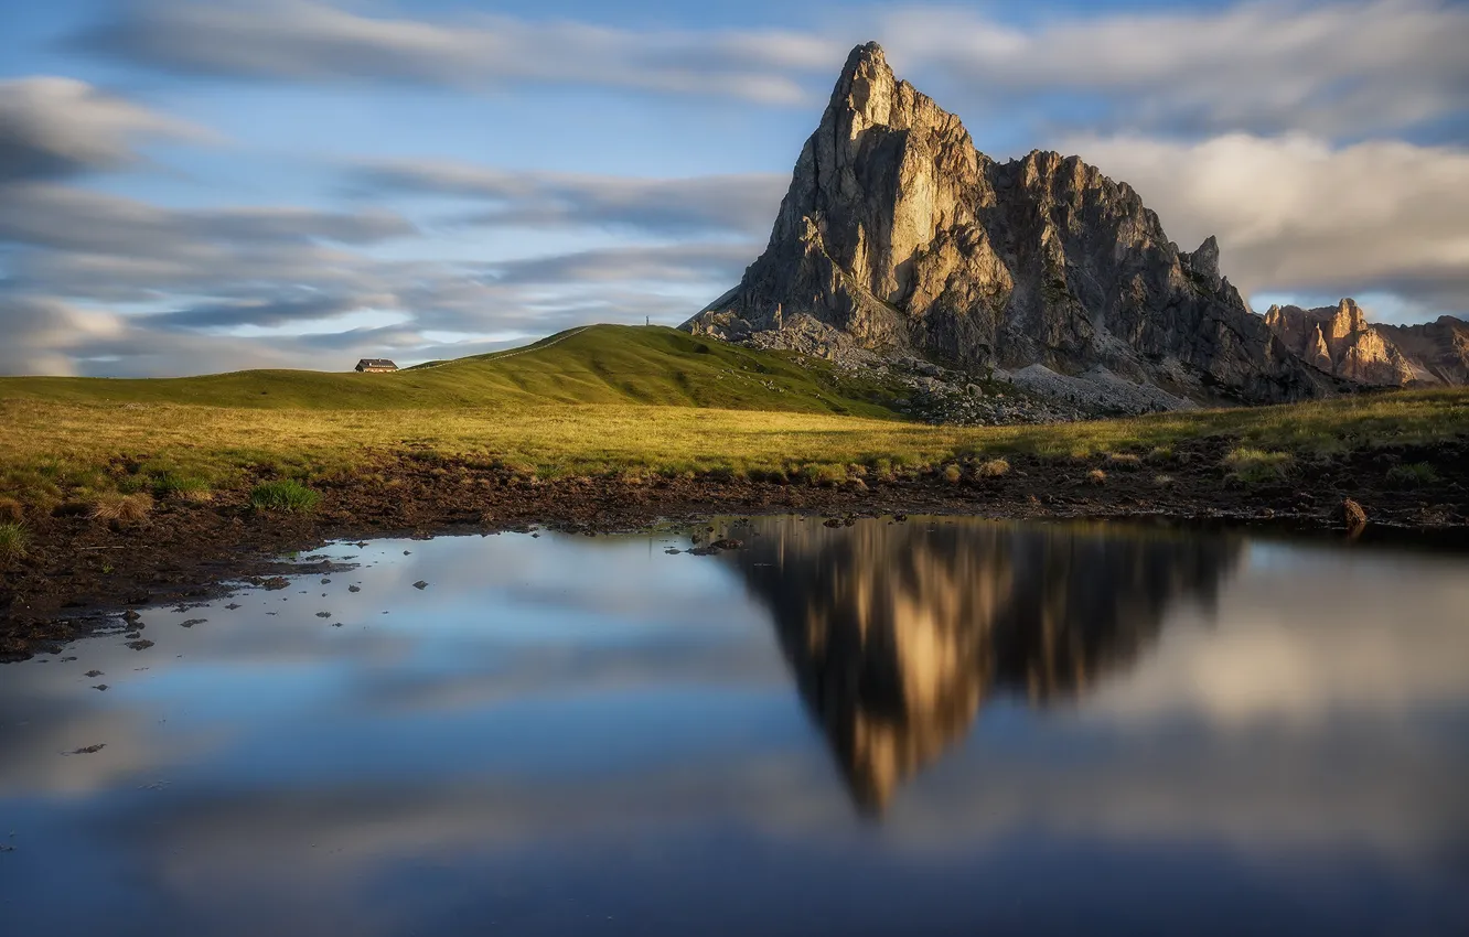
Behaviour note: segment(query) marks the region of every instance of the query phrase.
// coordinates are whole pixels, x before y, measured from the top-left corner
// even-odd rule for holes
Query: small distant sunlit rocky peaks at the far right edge
[[[1469,322],[1369,323],[1353,300],[1321,308],[1272,305],[1265,325],[1312,366],[1369,386],[1469,383]]]

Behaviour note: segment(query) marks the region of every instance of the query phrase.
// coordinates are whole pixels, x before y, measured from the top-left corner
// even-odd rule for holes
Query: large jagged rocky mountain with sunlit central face
[[[685,328],[732,341],[921,354],[961,367],[1097,366],[1196,398],[1332,389],[1130,187],[1077,157],[996,163],[959,119],[852,51],[765,253]]]

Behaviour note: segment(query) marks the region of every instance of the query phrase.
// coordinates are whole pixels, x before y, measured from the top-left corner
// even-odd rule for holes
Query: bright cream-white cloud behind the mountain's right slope
[[[1246,134],[1065,147],[1131,184],[1184,250],[1216,234],[1246,292],[1388,292],[1469,310],[1469,150]]]

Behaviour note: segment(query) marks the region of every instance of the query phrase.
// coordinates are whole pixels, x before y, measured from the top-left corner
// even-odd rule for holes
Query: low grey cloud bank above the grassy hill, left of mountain
[[[0,245],[10,245],[0,279],[0,373],[153,376],[331,369],[323,351],[339,352],[342,367],[372,354],[474,354],[497,347],[474,336],[682,319],[755,253],[740,244],[654,244],[455,264],[361,250],[414,232],[380,211],[170,210],[50,184],[0,188]],[[169,311],[120,314],[116,304]],[[332,326],[357,310],[403,322]],[[310,323],[320,332],[220,335]],[[436,333],[466,341],[451,347]]]

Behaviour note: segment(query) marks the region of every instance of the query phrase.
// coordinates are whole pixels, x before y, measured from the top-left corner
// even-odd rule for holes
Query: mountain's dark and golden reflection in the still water
[[[1171,605],[1215,601],[1243,549],[977,520],[754,530],[726,561],[771,609],[801,696],[871,814],[987,698],[1046,705],[1128,667]]]

